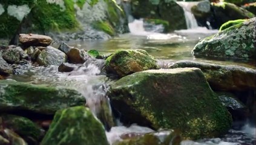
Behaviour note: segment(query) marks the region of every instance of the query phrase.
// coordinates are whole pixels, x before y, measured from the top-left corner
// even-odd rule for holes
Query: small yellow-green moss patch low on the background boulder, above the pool
[[[110,36],[114,36],[116,33],[114,31],[114,28],[110,25],[108,21],[97,21],[93,23],[93,28],[96,30],[103,31]]]

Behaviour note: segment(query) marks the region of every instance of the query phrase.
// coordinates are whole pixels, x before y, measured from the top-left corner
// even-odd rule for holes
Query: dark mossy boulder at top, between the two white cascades
[[[135,18],[160,19],[169,23],[167,31],[186,29],[183,8],[175,1],[131,1],[131,11]]]

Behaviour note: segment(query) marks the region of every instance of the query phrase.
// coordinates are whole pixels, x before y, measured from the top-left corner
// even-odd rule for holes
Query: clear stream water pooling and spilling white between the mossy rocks
[[[187,14],[191,16],[191,14]],[[133,20],[129,24],[131,33],[122,34],[110,40],[84,40],[67,42],[69,45],[86,50],[98,50],[102,55],[114,53],[123,49],[142,49],[156,57],[162,65],[169,65],[176,60],[195,60],[200,62],[219,63],[225,65],[240,65],[255,68],[255,60],[235,60],[194,57],[191,53],[195,44],[203,37],[217,33],[217,30],[207,30],[189,23],[191,29],[174,31],[174,33],[157,33],[161,26],[145,28],[143,20]],[[195,27],[196,26],[196,27]],[[122,134],[147,133],[154,130],[148,127],[122,126],[113,117],[109,99],[106,95],[108,84],[113,81],[108,79],[102,71],[104,60],[90,60],[83,65],[77,65],[72,72],[58,72],[57,66],[33,67],[28,66],[17,75],[10,76],[21,82],[42,84],[48,86],[68,86],[79,91],[87,100],[87,106],[106,127],[108,141],[113,143],[121,140]],[[242,123],[243,127],[234,126],[228,134],[220,138],[202,139],[198,141],[182,141],[182,145],[224,145],[224,144],[255,144],[255,125]],[[113,127],[111,127],[113,126]],[[110,130],[108,130],[110,129]]]

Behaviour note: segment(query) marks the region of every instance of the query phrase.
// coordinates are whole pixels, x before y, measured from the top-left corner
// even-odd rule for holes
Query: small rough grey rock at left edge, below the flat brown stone
[[[2,52],[2,58],[8,63],[19,63],[21,56],[19,55],[19,50],[16,48],[10,48]]]

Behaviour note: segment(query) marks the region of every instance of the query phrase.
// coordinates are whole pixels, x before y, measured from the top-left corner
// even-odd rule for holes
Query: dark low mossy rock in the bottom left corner
[[[41,127],[33,123],[33,121],[29,120],[28,118],[7,114],[1,115],[0,117],[2,118],[4,127],[13,130],[27,142],[35,140],[39,143],[39,141],[42,139],[42,135],[44,135]]]

